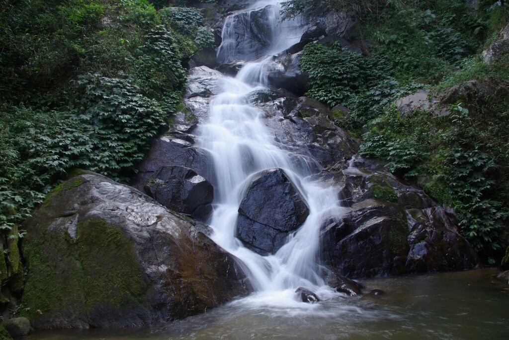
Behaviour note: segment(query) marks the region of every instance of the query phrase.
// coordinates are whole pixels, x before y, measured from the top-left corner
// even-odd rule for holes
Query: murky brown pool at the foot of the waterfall
[[[494,279],[497,272],[374,279],[364,282],[367,291],[386,295],[321,291],[324,300],[315,305],[277,303],[293,292],[254,295],[144,329],[41,331],[26,339],[509,339],[509,287]]]

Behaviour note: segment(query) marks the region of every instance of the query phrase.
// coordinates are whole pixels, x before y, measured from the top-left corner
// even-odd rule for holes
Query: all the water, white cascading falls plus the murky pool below
[[[279,2],[259,1],[246,10],[271,6],[267,58],[298,42],[304,29],[298,20],[278,22]],[[246,50],[232,49],[232,24],[230,17],[220,48],[248,61]],[[218,176],[213,239],[242,261],[256,292],[201,315],[154,327],[40,331],[27,340],[507,338],[509,291],[493,279],[495,269],[364,281],[366,291],[386,291],[381,297],[346,297],[325,286],[317,272],[319,229],[325,219],[340,216],[346,208],[338,205],[337,188],[312,180],[314,167],[305,158],[296,159],[273,142],[263,123],[264,113],[247,103],[249,92],[267,87],[263,74],[267,58],[246,64],[235,78],[225,78],[224,91],[212,100],[209,121],[199,131],[200,146],[212,153]],[[284,169],[306,200],[309,215],[276,254],[261,256],[242,245],[235,228],[252,176],[269,168]],[[299,302],[298,286],[313,289],[322,301]]]

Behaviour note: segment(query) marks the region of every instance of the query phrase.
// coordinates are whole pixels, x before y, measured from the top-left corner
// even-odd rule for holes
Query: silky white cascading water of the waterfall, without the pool
[[[278,37],[271,43],[270,50],[277,53],[298,42],[300,35],[296,37],[295,33],[298,29],[302,33],[304,28],[296,27],[296,21],[278,24],[280,6],[277,0],[255,3],[248,11],[266,5],[272,5],[274,11],[270,29],[277,32]],[[231,20],[226,22],[225,26]],[[223,39],[223,45],[230,44],[228,30],[223,30]],[[227,48],[223,45],[220,48]],[[200,146],[212,153],[217,174],[218,190],[210,223],[214,230],[212,238],[242,261],[258,292],[244,302],[294,307],[297,304],[294,291],[299,286],[328,294],[317,273],[319,231],[324,220],[341,215],[345,208],[338,205],[337,188],[330,183],[310,180],[313,167],[304,158],[296,161],[295,156],[291,158],[277,147],[273,143],[274,136],[264,126],[264,113],[246,103],[245,96],[249,92],[268,86],[263,66],[269,58],[248,63],[235,78],[225,78],[224,91],[213,98],[210,119],[201,126],[199,140]],[[252,175],[269,168],[284,169],[306,200],[309,215],[276,254],[261,256],[242,245],[235,237],[235,229],[238,209]]]

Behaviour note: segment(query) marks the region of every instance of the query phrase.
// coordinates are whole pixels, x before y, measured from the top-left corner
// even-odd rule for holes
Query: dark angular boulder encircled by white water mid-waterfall
[[[237,235],[254,252],[274,254],[308,214],[304,199],[285,172],[265,170],[253,180],[240,204]]]

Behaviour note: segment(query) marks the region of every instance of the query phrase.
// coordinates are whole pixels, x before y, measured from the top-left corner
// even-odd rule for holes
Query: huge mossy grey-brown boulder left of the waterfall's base
[[[148,325],[250,291],[192,220],[98,174],[61,184],[23,228],[22,303],[37,329]]]

